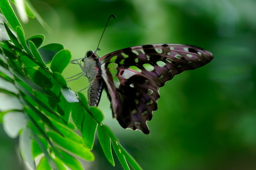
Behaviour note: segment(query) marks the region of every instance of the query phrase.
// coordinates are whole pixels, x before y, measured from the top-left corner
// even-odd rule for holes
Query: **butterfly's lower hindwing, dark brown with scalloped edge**
[[[124,128],[149,133],[146,121],[151,120],[160,97],[157,84],[145,75],[118,64],[106,63],[101,68],[114,118]]]

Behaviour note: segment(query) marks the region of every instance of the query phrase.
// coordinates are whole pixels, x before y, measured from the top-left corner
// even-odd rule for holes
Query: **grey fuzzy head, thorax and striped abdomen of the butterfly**
[[[98,106],[103,88],[99,57],[93,51],[88,51],[82,61],[83,75],[88,78],[90,83],[88,103],[90,106]]]

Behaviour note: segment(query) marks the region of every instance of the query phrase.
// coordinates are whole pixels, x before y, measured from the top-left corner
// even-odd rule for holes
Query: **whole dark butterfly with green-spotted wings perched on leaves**
[[[202,67],[211,59],[213,54],[196,46],[149,44],[120,49],[102,58],[88,51],[82,58],[83,66],[77,63],[90,83],[90,106],[98,106],[106,89],[119,124],[149,134],[146,122],[157,109],[159,87],[176,74]]]

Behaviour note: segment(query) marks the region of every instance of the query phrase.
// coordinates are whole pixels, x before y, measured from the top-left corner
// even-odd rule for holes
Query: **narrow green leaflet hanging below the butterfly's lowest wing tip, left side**
[[[107,134],[104,132],[104,130],[100,126],[98,126],[97,128],[97,132],[98,132],[101,148],[107,158],[107,161],[109,161],[112,164],[112,166],[115,166],[114,158],[112,156],[111,144],[110,144],[111,140],[109,136],[107,136]]]

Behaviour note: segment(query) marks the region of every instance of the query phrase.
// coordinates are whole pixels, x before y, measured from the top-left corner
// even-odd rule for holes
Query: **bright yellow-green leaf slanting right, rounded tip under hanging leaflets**
[[[78,144],[67,138],[63,138],[54,132],[47,132],[47,134],[56,144],[58,144],[58,146],[65,148],[67,151],[70,151],[87,161],[94,160],[94,155],[92,154],[92,152],[89,151],[82,144]]]

